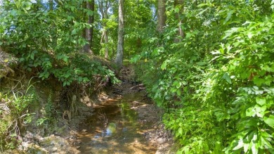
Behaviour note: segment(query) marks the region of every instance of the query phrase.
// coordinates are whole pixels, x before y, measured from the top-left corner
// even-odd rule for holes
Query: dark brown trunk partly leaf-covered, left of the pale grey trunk
[[[89,1],[86,1],[86,9],[91,9],[91,4]],[[93,15],[92,15],[93,16]],[[88,16],[88,22],[91,24],[91,15]],[[84,45],[84,52],[85,53],[92,53],[91,51],[91,28],[86,27],[86,32],[85,32],[85,39],[86,39],[86,44]]]

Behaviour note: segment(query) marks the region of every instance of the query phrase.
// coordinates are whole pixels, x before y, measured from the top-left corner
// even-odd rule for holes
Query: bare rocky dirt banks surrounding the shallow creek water
[[[127,69],[127,72],[132,73],[129,69]],[[126,73],[124,74],[126,75]],[[132,79],[130,75],[126,75],[124,78]],[[93,94],[93,96],[80,96],[76,92],[77,115],[68,118],[67,115],[64,116],[62,114],[63,111],[60,113],[60,109],[54,108],[53,110],[55,110],[55,114],[57,113],[57,115],[55,115],[56,119],[52,126],[44,125],[44,127],[34,127],[35,122],[41,115],[41,110],[45,108],[43,104],[46,104],[51,94],[53,100],[57,100],[53,102],[55,105],[65,101],[64,96],[68,96],[62,94],[64,93],[62,92],[64,89],[56,87],[55,82],[52,83],[51,86],[53,87],[51,88],[48,87],[47,83],[44,83],[44,86],[42,85],[43,83],[39,83],[39,86],[36,85],[35,91],[39,93],[37,95],[39,96],[40,105],[37,105],[37,109],[35,109],[37,110],[35,111],[37,114],[34,122],[27,126],[25,135],[20,139],[22,142],[18,150],[9,150],[5,153],[81,153],[81,147],[85,144],[79,139],[79,134],[85,133],[85,130],[81,129],[81,123],[94,114],[96,105],[102,105],[107,101],[113,101],[115,103],[115,100],[119,100],[125,95],[130,95],[138,91],[141,91],[141,98],[137,101],[131,98],[126,104],[129,105],[131,110],[136,112],[136,121],[138,124],[150,125],[150,127],[140,132],[143,139],[127,144],[127,146],[131,146],[135,150],[129,150],[126,153],[141,153],[142,150],[136,149],[145,147],[143,146],[143,142],[153,147],[151,148],[153,150],[150,151],[150,149],[148,149],[146,153],[174,153],[170,150],[174,144],[171,139],[172,137],[161,123],[162,111],[151,103],[152,101],[146,96],[145,87],[143,87],[142,84],[130,82],[129,80],[122,84],[108,87],[105,90],[100,89],[100,92]],[[72,89],[68,90],[70,92],[72,91]],[[72,94],[74,93],[71,93],[70,96],[72,96]],[[98,120],[98,122],[102,121]],[[102,148],[107,149],[107,146],[103,146]],[[117,153],[119,153],[119,151],[117,151]]]

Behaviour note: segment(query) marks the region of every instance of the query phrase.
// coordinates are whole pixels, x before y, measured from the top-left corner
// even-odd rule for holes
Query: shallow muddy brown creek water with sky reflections
[[[155,153],[156,147],[144,135],[152,124],[139,122],[131,109],[131,103],[142,99],[143,93],[136,92],[95,106],[94,115],[80,126],[81,153]]]

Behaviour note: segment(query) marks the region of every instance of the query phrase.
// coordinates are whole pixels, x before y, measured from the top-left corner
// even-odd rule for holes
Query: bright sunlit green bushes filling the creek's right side
[[[165,32],[131,61],[148,61],[178,153],[273,153],[273,1],[198,2],[184,2],[182,38],[168,1]]]

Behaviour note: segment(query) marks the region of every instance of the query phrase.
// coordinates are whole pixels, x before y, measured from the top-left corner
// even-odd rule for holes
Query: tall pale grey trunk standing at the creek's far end
[[[118,44],[115,63],[117,65],[117,72],[121,70],[123,65],[123,53],[124,53],[124,0],[119,0],[119,27],[118,27]]]

